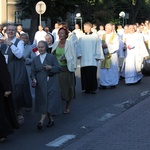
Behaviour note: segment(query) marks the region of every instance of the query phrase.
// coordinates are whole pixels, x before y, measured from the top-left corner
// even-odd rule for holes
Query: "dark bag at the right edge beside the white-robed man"
[[[150,76],[150,60],[144,60],[141,72],[144,76]]]

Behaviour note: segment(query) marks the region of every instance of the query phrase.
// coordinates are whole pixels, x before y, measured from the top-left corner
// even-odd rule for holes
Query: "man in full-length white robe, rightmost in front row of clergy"
[[[148,57],[148,51],[141,35],[129,25],[129,34],[126,39],[127,55],[125,61],[125,83],[136,84],[142,79],[142,62]]]

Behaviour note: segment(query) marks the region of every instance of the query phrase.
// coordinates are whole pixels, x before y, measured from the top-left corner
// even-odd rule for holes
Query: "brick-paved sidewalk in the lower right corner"
[[[150,150],[150,97],[62,150]]]

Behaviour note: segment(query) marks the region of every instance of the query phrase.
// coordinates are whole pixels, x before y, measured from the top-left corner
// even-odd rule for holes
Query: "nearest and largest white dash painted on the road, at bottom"
[[[66,134],[63,136],[60,136],[59,138],[53,140],[52,142],[49,142],[48,144],[46,144],[46,146],[49,147],[59,147],[62,144],[66,143],[67,141],[74,139],[76,136],[73,134]]]

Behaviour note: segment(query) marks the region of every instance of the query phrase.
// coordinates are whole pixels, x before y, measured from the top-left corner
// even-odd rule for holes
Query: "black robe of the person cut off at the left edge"
[[[12,91],[11,78],[5,58],[0,52],[0,138],[12,134],[13,128],[19,128],[12,95],[10,94],[7,98],[4,97],[6,91]]]

